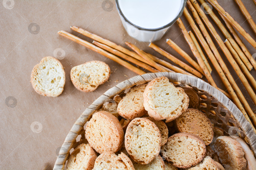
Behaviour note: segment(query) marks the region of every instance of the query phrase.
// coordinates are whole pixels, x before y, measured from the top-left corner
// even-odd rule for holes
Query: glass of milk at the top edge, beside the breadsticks
[[[180,17],[186,0],[116,0],[127,33],[143,42],[162,38]]]

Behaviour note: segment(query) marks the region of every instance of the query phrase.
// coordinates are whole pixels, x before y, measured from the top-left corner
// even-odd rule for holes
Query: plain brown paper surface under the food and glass
[[[58,31],[64,30],[78,35],[69,28],[71,25],[76,25],[124,47],[126,47],[125,41],[136,43],[139,48],[146,52],[166,61],[169,60],[147,47],[148,43],[137,42],[127,35],[113,0],[111,2],[114,4],[114,8],[109,12],[102,9],[103,0],[14,0],[14,2],[12,9],[4,8],[0,3],[0,167],[2,169],[52,169],[56,160],[56,153],[58,153],[56,150],[63,144],[67,133],[82,111],[108,88],[127,78],[136,76],[136,73],[114,61],[59,36]],[[233,0],[219,0],[219,3],[255,39],[253,31],[235,2]],[[256,21],[256,6],[253,0],[243,0],[243,3]],[[185,18],[181,17],[181,19],[188,26]],[[38,34],[31,34],[28,31],[30,23],[36,23],[40,26]],[[215,24],[214,26],[220,32]],[[188,27],[187,30],[189,31],[191,28]],[[92,42],[87,37],[81,35],[79,37]],[[222,35],[221,37],[222,40],[225,39]],[[172,39],[194,58],[176,23],[161,40],[155,43],[185,61],[172,48],[168,47],[168,44],[165,43],[166,38]],[[243,37],[242,40],[251,54],[256,53],[255,49]],[[218,47],[217,44],[216,47]],[[45,56],[53,56],[53,51],[56,48],[62,48],[65,51],[65,57],[60,62],[65,68],[66,84],[59,97],[44,97],[37,94],[32,88],[30,74],[34,65],[38,64]],[[218,49],[220,50],[220,48]],[[223,53],[219,52],[255,111],[256,107],[238,76],[234,73]],[[109,82],[101,85],[92,93],[83,93],[78,91],[70,81],[70,70],[73,66],[90,60],[106,62],[113,72]],[[210,62],[210,60],[208,61]],[[250,72],[256,77],[254,70]],[[216,80],[216,84],[225,89],[214,69],[212,76]],[[17,100],[15,107],[11,108],[6,105],[5,100],[8,96],[13,96]],[[9,102],[11,104],[12,100]],[[40,124],[33,127],[32,122],[35,121],[42,126],[41,131],[39,129],[40,133],[33,132],[34,129],[40,128]]]

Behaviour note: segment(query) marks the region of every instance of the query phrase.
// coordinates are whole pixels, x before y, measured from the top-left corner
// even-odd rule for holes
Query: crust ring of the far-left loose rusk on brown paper
[[[39,66],[41,63],[43,63],[44,60],[46,60],[46,59],[53,59],[53,60],[55,60],[55,61],[59,64],[59,66],[61,67],[61,70],[62,70],[63,73],[64,73],[64,84],[63,84],[63,87],[62,87],[62,91],[61,91],[59,94],[54,95],[54,96],[53,96],[51,93],[45,93],[45,92],[40,91],[39,89],[36,88],[35,83],[34,83],[34,76],[37,74],[38,66]],[[59,96],[59,95],[63,92],[63,90],[64,90],[64,85],[65,85],[65,81],[66,81],[66,78],[65,78],[65,71],[64,71],[63,65],[61,64],[61,62],[60,62],[58,59],[56,59],[56,58],[54,58],[54,57],[51,57],[51,56],[44,57],[44,58],[41,59],[41,61],[40,61],[39,64],[37,64],[37,65],[34,66],[32,72],[31,72],[31,75],[30,75],[30,81],[31,81],[32,87],[34,88],[34,90],[36,91],[36,93],[38,93],[38,94],[40,94],[40,95],[43,95],[43,96],[48,96],[48,97],[57,97],[57,96]]]

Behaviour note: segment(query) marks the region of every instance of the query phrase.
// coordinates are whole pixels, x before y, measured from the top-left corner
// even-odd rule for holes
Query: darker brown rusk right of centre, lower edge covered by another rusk
[[[213,139],[213,127],[210,119],[197,109],[187,109],[174,120],[179,132],[192,133],[203,139],[206,145]]]

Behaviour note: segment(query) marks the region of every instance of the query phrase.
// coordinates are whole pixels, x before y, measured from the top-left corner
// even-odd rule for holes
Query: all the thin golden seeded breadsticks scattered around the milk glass
[[[256,34],[256,25],[247,9],[241,0],[235,0],[235,2],[238,4],[242,14],[246,17],[249,25]],[[211,10],[210,6],[217,10],[222,21],[218,18],[217,14]],[[206,15],[204,11],[207,11],[207,14],[209,15]],[[237,30],[241,36],[243,36],[256,49],[255,40],[232,18],[231,15],[225,11],[225,9],[220,6],[220,4],[218,4],[217,0],[207,0],[207,3],[205,0],[188,0],[187,7],[184,9],[183,15],[188,21],[192,31],[187,31],[180,18],[177,20],[177,24],[180,27],[180,30],[196,60],[193,60],[171,39],[167,39],[166,43],[186,59],[191,66],[158,47],[154,43],[150,43],[149,47],[171,60],[173,64],[139,49],[130,42],[126,42],[125,44],[131,48],[131,50],[77,26],[71,26],[70,28],[73,31],[93,39],[92,43],[78,38],[66,31],[58,31],[58,34],[90,48],[109,59],[112,59],[139,75],[145,74],[145,71],[147,70],[149,72],[176,72],[196,76],[198,78],[203,78],[203,76],[205,76],[207,81],[213,87],[220,90],[235,103],[246,117],[247,121],[252,125],[254,132],[256,132],[255,126],[253,126],[256,125],[255,114],[248,104],[247,99],[245,99],[244,94],[241,92],[241,89],[235,82],[234,77],[231,75],[229,68],[223,61],[223,56],[219,54],[214,44],[214,41],[218,43],[220,49],[225,54],[225,57],[234,68],[235,73],[239,76],[253,103],[256,105],[256,81],[249,72],[252,69],[256,69],[256,61],[235,30]],[[216,23],[222,34],[226,37],[226,40],[222,41],[220,35],[216,32],[216,28],[214,28],[212,23],[209,21],[209,18]],[[206,25],[209,31],[207,31],[204,25]],[[211,37],[214,37],[215,40],[213,41]],[[207,56],[204,54],[207,54]],[[210,59],[210,61],[207,59]],[[211,76],[213,68],[211,68],[209,64],[210,62],[216,69],[227,90],[224,91],[217,87]]]

